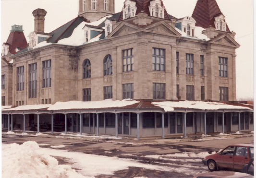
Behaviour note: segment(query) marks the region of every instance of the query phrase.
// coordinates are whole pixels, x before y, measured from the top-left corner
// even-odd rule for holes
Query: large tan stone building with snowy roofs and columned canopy
[[[162,0],[124,0],[118,13],[114,0],[79,0],[78,17],[50,33],[46,11],[33,15],[29,45],[11,56],[12,79],[4,81],[12,107],[2,113],[11,129],[15,120],[24,131],[138,138],[252,130],[253,106],[236,103],[240,45],[215,0],[198,0],[183,18],[171,16]],[[122,107],[106,104],[123,99]],[[86,107],[55,108],[70,101]],[[209,101],[219,107],[208,108]],[[97,102],[101,107],[87,105]]]

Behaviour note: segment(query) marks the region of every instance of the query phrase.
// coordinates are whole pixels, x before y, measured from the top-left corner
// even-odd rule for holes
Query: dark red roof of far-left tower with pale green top
[[[27,47],[26,38],[24,36],[24,33],[21,31],[12,31],[6,43],[9,45],[9,53],[11,54],[16,53],[16,47],[19,49],[24,49],[25,47]]]

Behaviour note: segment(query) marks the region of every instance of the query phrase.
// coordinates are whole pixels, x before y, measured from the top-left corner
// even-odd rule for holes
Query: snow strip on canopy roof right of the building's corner
[[[163,108],[166,112],[173,111],[174,108],[188,108],[188,109],[201,109],[201,110],[218,110],[218,109],[249,109],[249,107],[228,105],[218,102],[205,102],[205,101],[163,101],[152,102],[153,105]]]

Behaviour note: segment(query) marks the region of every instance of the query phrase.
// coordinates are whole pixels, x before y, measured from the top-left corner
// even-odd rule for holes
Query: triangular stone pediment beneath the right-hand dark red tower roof
[[[240,47],[240,45],[229,35],[225,34],[222,36],[217,36],[209,41],[210,43],[215,43],[224,46]]]

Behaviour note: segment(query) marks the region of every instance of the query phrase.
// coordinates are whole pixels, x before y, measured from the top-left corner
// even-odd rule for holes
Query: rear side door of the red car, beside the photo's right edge
[[[245,146],[237,146],[233,156],[233,169],[242,170],[245,164],[250,161],[248,148]]]

